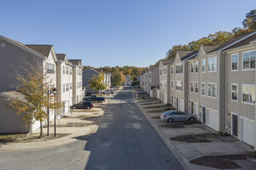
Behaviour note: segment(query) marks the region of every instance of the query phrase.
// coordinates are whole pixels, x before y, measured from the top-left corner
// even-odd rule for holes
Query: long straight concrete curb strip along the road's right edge
[[[153,121],[147,116],[147,114],[145,113],[145,111],[142,110],[142,108],[138,105],[138,103],[136,101],[134,101],[136,106],[138,106],[138,109],[140,111],[142,111],[143,115],[147,118],[148,122],[150,123],[150,125],[152,125],[152,127],[154,128],[154,130],[157,131],[157,134],[160,136],[160,138],[164,141],[165,144],[167,144],[167,147],[171,150],[171,152],[174,154],[174,156],[177,158],[177,160],[181,163],[182,167],[184,169],[196,169],[193,167],[193,165],[191,165],[191,163],[182,155],[182,153],[179,151],[179,149],[176,148],[176,146],[174,144],[172,144],[171,140],[168,139],[162,132],[162,130],[160,130],[157,125],[155,125],[153,123]]]

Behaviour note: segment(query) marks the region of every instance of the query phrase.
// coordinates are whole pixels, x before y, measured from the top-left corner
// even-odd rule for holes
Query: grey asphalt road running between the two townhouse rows
[[[0,153],[0,169],[183,169],[132,99],[132,87],[124,87],[95,134],[60,147]]]

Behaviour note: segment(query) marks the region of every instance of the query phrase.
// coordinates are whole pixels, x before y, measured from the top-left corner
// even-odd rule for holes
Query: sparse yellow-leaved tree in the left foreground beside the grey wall
[[[26,125],[31,125],[36,120],[40,121],[40,136],[43,135],[42,122],[48,118],[46,108],[50,110],[59,110],[60,102],[56,101],[56,97],[52,94],[52,82],[43,67],[42,61],[29,63],[24,61],[23,72],[15,72],[13,77],[17,80],[15,87],[17,92],[25,96],[26,102],[17,98],[12,98],[8,102],[8,107],[15,110],[18,114],[23,113],[22,120]]]

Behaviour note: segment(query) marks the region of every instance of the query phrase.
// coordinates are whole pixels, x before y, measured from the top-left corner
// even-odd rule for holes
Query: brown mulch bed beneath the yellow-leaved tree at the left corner
[[[62,138],[62,137],[65,137],[66,135],[70,135],[70,134],[56,134],[56,137],[54,137],[53,134],[50,134],[49,136],[44,134],[41,138],[38,138],[39,135],[40,134],[31,134],[31,135],[19,136],[17,138],[10,137],[10,135],[8,135],[7,138],[0,139],[0,144],[39,142],[39,141],[46,141],[46,140],[51,140],[51,139]]]

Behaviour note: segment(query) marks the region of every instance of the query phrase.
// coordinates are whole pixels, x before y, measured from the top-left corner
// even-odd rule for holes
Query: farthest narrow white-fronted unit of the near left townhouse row
[[[68,59],[68,62],[72,64],[73,103],[78,103],[78,102],[83,101],[83,97],[85,96],[85,90],[83,89],[82,60],[81,59]]]

